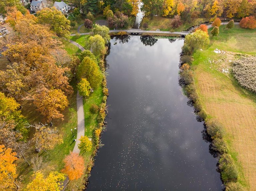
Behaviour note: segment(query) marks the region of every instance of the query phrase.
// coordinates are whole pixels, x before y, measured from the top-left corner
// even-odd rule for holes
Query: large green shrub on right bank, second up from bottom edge
[[[237,181],[238,170],[230,154],[225,153],[221,155],[219,169],[221,170],[221,178],[224,183]]]

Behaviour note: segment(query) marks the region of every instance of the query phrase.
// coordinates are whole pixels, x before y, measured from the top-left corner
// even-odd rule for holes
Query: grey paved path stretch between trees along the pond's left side
[[[80,149],[78,148],[78,144],[80,143],[79,139],[81,136],[84,136],[85,126],[84,126],[84,107],[83,107],[83,99],[79,95],[77,91],[76,94],[76,108],[77,108],[77,137],[76,144],[73,149],[73,152],[80,153]]]

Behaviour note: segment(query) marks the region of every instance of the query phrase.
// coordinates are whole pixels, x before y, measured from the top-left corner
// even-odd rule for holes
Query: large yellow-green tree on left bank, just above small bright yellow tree
[[[86,78],[92,88],[96,88],[102,81],[102,73],[98,64],[86,56],[78,66],[80,78]]]

